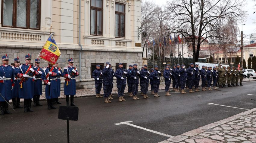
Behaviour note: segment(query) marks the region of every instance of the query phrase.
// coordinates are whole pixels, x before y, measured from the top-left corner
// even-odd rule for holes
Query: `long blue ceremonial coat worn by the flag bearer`
[[[46,99],[53,99],[58,98],[59,92],[58,92],[58,81],[57,76],[59,76],[58,69],[52,70],[52,75],[49,75],[49,79],[46,79],[46,75],[50,71],[49,67],[44,68],[42,72],[42,80],[45,83],[45,98]],[[51,84],[48,85],[47,83],[50,82]],[[50,90],[50,91],[49,91]]]

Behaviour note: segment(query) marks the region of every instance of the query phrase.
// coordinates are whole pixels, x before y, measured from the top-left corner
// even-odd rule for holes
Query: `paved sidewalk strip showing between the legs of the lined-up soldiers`
[[[249,79],[248,78],[244,78],[243,82],[246,82],[246,81],[249,81]],[[251,78],[250,81],[256,81],[256,79],[252,79]],[[199,82],[199,85],[201,85],[201,81]],[[161,84],[159,86],[159,90],[164,90],[164,89],[165,89],[165,85]],[[170,89],[172,89],[172,83],[171,83]],[[150,85],[148,86],[148,91],[151,91],[151,86]],[[140,86],[138,88],[138,92],[140,92]],[[127,85],[126,85],[126,88],[124,90],[124,93],[128,93],[128,86]],[[117,94],[117,87],[116,86],[113,87],[112,94]],[[101,89],[101,95],[103,95],[103,88]],[[90,96],[96,96],[95,88],[92,88],[92,89],[78,89],[78,90],[76,90],[75,97],[90,97]],[[61,91],[61,96],[59,98],[60,99],[65,98],[64,91]],[[40,100],[46,100],[45,99],[45,92],[43,92],[42,96],[40,96]],[[20,101],[23,102],[23,99],[20,99]],[[11,100],[9,102],[12,103]]]

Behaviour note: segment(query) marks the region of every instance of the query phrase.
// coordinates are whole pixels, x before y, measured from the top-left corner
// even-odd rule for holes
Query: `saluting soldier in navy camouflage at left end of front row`
[[[105,68],[102,70],[102,74],[105,103],[111,103],[111,101],[108,99],[109,95],[111,94],[111,86],[113,85],[113,69],[111,69],[110,63],[106,63]]]

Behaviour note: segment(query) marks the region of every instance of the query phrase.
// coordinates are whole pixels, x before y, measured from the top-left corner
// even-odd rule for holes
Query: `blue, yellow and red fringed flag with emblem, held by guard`
[[[39,57],[54,65],[60,55],[61,51],[59,50],[52,34],[50,34],[49,38],[45,42],[45,45],[39,53]]]

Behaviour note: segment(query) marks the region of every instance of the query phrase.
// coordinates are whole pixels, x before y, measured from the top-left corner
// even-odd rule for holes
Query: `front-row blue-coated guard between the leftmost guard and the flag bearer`
[[[31,55],[25,56],[26,63],[20,65],[20,68],[16,70],[15,75],[21,78],[19,97],[24,99],[24,112],[33,112],[31,109],[32,98],[34,96],[34,76],[39,73],[33,69],[31,65]],[[23,80],[24,79],[24,80]]]

